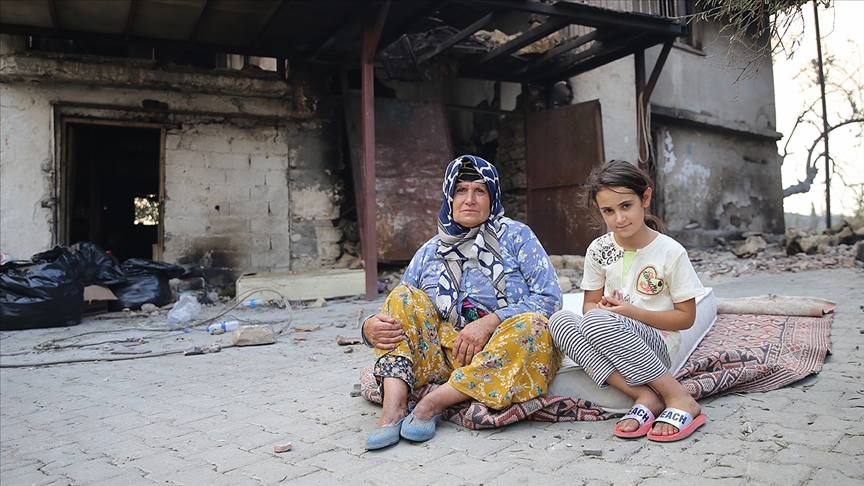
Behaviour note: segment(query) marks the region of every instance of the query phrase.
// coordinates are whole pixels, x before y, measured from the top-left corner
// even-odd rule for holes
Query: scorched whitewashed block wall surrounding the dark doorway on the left
[[[28,258],[73,243],[60,241],[53,204],[58,125],[74,116],[165,127],[163,260],[200,263],[211,283],[225,285],[245,272],[339,258],[344,167],[326,83],[10,50],[0,57],[4,252]],[[142,100],[166,108],[142,109]]]

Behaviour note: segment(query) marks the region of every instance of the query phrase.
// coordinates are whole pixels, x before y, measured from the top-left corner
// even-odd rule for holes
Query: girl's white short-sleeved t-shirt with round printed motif
[[[613,233],[595,239],[585,254],[582,289],[603,289],[603,295],[618,290],[625,301],[651,311],[672,310],[676,302],[705,293],[687,250],[662,233],[645,248],[636,250],[626,274],[624,248],[615,241]],[[681,346],[681,333],[659,329],[657,332],[666,343],[670,359],[674,359]]]

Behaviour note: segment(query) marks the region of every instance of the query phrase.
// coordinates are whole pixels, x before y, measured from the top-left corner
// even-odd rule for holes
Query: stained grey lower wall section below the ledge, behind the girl
[[[654,128],[660,134],[657,202],[670,235],[704,247],[747,231],[784,232],[773,144],[702,127]]]

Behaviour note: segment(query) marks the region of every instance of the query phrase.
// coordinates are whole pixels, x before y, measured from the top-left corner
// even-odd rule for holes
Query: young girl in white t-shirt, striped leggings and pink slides
[[[600,387],[611,385],[635,401],[615,435],[670,442],[705,423],[699,404],[669,372],[678,331],[693,325],[695,298],[705,289],[684,247],[646,214],[652,192],[648,176],[622,160],[588,177],[583,203],[595,217],[599,211],[611,233],[586,252],[584,317],[558,311],[549,331]]]

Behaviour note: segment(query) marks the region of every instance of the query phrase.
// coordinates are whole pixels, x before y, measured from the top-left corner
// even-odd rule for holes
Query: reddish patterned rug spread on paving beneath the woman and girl
[[[696,398],[765,392],[794,383],[822,369],[831,352],[831,322],[825,317],[720,314],[676,378]],[[372,367],[361,370],[361,394],[381,403]],[[419,401],[437,385],[417,390]],[[444,419],[469,429],[501,427],[520,420],[572,422],[620,417],[580,398],[545,396],[503,410],[476,401],[450,407]]]

